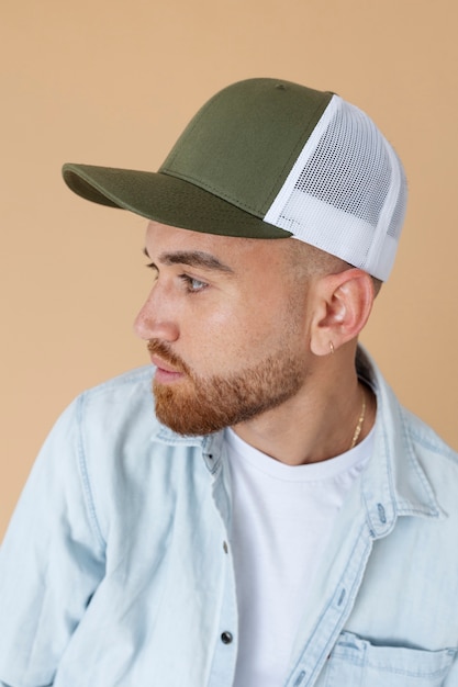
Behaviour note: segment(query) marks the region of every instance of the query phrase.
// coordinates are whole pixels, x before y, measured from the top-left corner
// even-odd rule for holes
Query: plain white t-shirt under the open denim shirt
[[[280,463],[225,430],[239,613],[234,687],[284,684],[308,593],[335,518],[367,462],[370,433],[320,463]]]

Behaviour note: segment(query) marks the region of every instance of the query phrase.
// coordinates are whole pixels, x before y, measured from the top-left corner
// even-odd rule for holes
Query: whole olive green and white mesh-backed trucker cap
[[[294,237],[387,280],[405,213],[402,165],[331,92],[248,79],[209,100],[157,172],[68,164],[82,198],[224,236]]]

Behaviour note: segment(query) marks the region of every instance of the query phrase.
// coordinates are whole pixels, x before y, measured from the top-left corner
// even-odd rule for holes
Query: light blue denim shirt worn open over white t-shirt
[[[358,365],[378,397],[373,454],[279,687],[458,687],[457,455],[361,350]],[[160,426],[152,372],[78,397],[32,470],[0,549],[2,687],[233,684],[223,436]]]

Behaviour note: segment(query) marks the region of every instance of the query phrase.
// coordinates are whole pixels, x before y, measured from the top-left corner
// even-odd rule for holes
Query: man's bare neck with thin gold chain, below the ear
[[[348,451],[353,442],[362,441],[375,423],[376,398],[358,382],[354,358],[349,364],[343,364],[344,351],[338,358],[336,353],[319,360],[294,397],[236,425],[234,431],[289,465],[328,460]]]

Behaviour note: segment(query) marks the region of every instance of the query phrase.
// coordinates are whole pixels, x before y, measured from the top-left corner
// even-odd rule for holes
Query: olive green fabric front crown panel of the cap
[[[331,98],[276,79],[230,86],[191,120],[159,171],[262,218]]]

